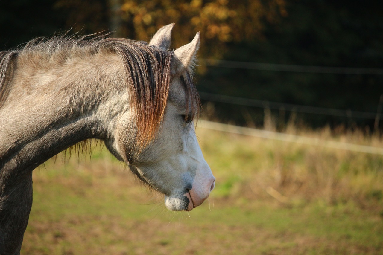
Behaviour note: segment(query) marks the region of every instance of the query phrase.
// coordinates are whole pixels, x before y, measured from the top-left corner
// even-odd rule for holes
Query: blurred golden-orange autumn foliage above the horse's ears
[[[284,0],[124,0],[121,10],[131,38],[147,39],[161,26],[176,23],[178,47],[201,31],[206,57],[223,56],[228,42],[252,40],[262,34],[264,21],[274,23],[286,15]]]

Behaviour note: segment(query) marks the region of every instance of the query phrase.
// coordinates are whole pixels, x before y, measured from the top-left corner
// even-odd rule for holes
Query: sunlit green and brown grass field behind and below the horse
[[[383,147],[329,129],[286,132]],[[197,129],[216,177],[170,212],[106,149],[34,170],[23,254],[383,254],[383,156]],[[65,162],[65,163],[64,163]]]

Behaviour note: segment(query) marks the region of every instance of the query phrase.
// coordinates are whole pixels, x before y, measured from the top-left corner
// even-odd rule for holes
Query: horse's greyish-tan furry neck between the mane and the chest
[[[113,54],[31,59],[21,54],[5,84],[0,174],[4,169],[33,170],[77,142],[105,139],[110,135],[105,123],[113,125],[113,116],[121,110],[111,101],[126,93],[123,70]]]

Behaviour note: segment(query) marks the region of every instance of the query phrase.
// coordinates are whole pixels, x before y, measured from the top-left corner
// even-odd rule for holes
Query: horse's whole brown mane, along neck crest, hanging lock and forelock
[[[131,93],[131,105],[136,116],[137,149],[151,142],[164,119],[170,87],[170,62],[173,52],[147,46],[146,42],[124,38],[110,38],[108,34],[87,36],[53,36],[36,38],[20,49],[0,52],[0,108],[3,101],[8,69],[13,59],[23,53],[43,52],[54,54],[95,54],[99,51],[115,52],[125,70],[126,84]],[[71,53],[72,52],[72,53]],[[193,74],[187,70],[183,77],[187,111],[194,117],[199,110],[199,97],[193,84]]]

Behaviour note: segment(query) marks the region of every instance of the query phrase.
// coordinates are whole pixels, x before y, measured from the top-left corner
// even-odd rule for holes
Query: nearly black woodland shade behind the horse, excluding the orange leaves
[[[141,33],[133,21],[138,14],[126,9],[114,10],[113,2],[115,1],[0,1],[0,50],[18,47],[39,36],[64,33],[71,28],[69,34],[113,30],[111,24],[115,16],[118,16],[116,22],[119,28],[118,31],[114,29],[117,35],[148,40],[149,38],[136,38]],[[173,2],[181,6],[181,2],[185,1]],[[214,1],[203,1],[203,5],[209,2]],[[232,2],[227,2],[225,6],[228,8],[240,8],[238,3],[241,1],[235,6]],[[144,1],[136,3],[145,4]],[[211,95],[202,93],[203,104],[213,100],[214,118],[223,122],[241,125],[253,123],[258,126],[263,124],[265,108],[269,106],[278,123],[286,123],[291,118],[290,110],[295,110],[296,118],[311,127],[343,125],[347,128],[363,127],[368,132],[374,129],[375,124],[376,129],[375,116],[355,116],[354,113],[379,111],[383,94],[383,2],[286,0],[283,2],[284,11],[276,12],[272,12],[273,7],[268,5],[268,1],[262,3],[268,6],[265,13],[272,13],[273,18],[267,14],[257,16],[262,28],[254,25],[254,36],[251,36],[251,28],[249,30],[245,26],[246,20],[242,22],[244,35],[233,36],[232,40],[208,38],[208,30],[198,25],[191,29],[201,30],[204,38],[199,54],[201,67],[197,70],[198,90],[240,98],[231,98],[232,103],[219,103],[217,101],[228,100],[220,96],[212,98]],[[119,4],[121,6],[122,3]],[[243,1],[244,6],[247,4],[247,1]],[[151,8],[156,10],[165,7],[159,5]],[[171,20],[172,17],[168,20],[162,19],[158,24],[154,20],[152,26],[144,26],[142,31],[150,36],[153,26],[159,28],[166,25],[165,22],[172,22]],[[182,30],[191,26],[188,20],[176,20],[174,41],[177,47],[180,46],[177,38],[185,35]],[[234,26],[235,21],[227,21],[228,26]],[[247,25],[251,22],[254,21],[249,20]],[[192,39],[188,34],[183,38],[185,41]],[[206,59],[234,62],[225,62],[226,67],[222,63],[213,64],[218,66],[206,66]],[[294,71],[280,70],[279,65],[273,70],[260,70],[264,67],[262,64],[260,68],[258,66],[252,69],[251,64],[238,61],[298,67]],[[328,70],[334,73],[323,73],[322,69],[304,72],[307,66],[329,67]],[[334,67],[357,67],[363,70],[358,71],[361,74],[354,74],[355,69],[345,69],[351,74],[344,74]],[[260,101],[247,102],[241,98]],[[278,104],[273,105],[272,102]],[[314,108],[310,113],[302,113],[300,105],[327,110]],[[328,108],[341,111],[332,114]],[[379,129],[381,126],[383,125],[378,126]],[[280,127],[283,128],[283,124]]]

